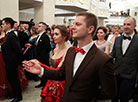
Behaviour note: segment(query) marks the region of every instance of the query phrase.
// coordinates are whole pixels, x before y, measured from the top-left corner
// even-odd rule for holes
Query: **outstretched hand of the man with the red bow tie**
[[[41,65],[37,60],[23,61],[23,67],[26,71],[33,74],[41,73]]]

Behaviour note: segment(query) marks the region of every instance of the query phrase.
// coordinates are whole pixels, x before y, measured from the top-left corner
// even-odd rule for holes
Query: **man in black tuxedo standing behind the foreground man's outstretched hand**
[[[38,26],[38,38],[35,42],[36,44],[36,59],[38,59],[40,62],[46,64],[49,66],[49,56],[50,56],[50,51],[51,51],[51,46],[50,46],[50,39],[48,35],[46,34],[46,23],[40,22]],[[42,80],[41,83],[37,87],[44,87],[46,84],[47,80]]]

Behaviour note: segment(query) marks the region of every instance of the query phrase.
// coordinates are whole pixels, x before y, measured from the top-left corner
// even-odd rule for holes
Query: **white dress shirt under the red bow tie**
[[[78,52],[75,56],[75,60],[74,60],[74,65],[73,65],[73,76],[75,75],[75,73],[77,72],[80,64],[82,63],[83,59],[85,58],[86,54],[88,53],[88,51],[90,50],[90,48],[92,47],[92,45],[94,44],[94,42],[90,42],[89,44],[87,44],[86,46],[83,46],[83,50],[85,51],[85,54],[82,55],[80,52]]]

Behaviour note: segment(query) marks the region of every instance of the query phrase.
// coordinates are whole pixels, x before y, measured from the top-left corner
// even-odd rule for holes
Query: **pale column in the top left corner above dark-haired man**
[[[0,0],[0,19],[4,17],[19,21],[19,0]]]

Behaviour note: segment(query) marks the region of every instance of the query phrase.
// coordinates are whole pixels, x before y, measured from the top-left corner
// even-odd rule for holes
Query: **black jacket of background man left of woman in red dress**
[[[49,55],[51,51],[50,39],[46,33],[43,33],[37,43],[36,46],[36,58],[46,64],[49,65]]]

